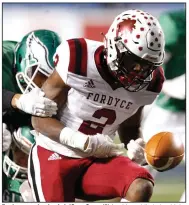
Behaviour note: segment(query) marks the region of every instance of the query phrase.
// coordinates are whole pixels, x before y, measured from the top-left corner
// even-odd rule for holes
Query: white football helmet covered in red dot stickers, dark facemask
[[[126,90],[147,86],[164,60],[164,33],[158,20],[141,10],[118,15],[105,35],[106,60],[113,76]]]

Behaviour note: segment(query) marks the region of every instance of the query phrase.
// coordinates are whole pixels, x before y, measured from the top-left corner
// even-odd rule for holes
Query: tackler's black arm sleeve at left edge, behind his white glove
[[[6,112],[7,110],[14,110],[14,108],[11,105],[11,101],[12,101],[12,98],[15,94],[16,93],[14,93],[14,92],[3,89],[3,96],[2,96],[2,101],[3,101],[3,103],[2,103],[3,110],[2,111],[3,112]]]

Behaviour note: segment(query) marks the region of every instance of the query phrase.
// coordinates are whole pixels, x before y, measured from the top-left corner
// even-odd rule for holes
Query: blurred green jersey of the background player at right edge
[[[170,60],[163,66],[165,77],[169,80],[186,73],[186,14],[184,10],[165,13],[159,21],[165,34],[165,51],[171,54]],[[156,103],[173,112],[186,109],[185,100],[170,98],[164,93],[160,93]]]

